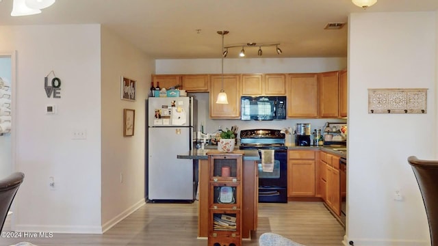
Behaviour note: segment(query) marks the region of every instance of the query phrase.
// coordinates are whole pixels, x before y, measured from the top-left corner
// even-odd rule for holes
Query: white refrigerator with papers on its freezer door
[[[146,200],[193,202],[197,163],[192,159],[177,159],[177,154],[192,150],[196,100],[192,97],[151,97],[146,105]]]

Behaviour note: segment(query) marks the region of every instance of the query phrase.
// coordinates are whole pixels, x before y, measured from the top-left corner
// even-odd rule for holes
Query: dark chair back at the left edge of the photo
[[[15,172],[0,180],[0,232],[3,230],[3,224],[5,223],[6,216],[8,216],[8,211],[11,207],[12,201],[14,200],[18,187],[20,187],[24,178],[25,174],[22,172]]]

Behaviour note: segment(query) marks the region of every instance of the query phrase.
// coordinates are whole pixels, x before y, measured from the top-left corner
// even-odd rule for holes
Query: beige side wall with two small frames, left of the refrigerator
[[[144,204],[145,100],[153,60],[109,29],[101,30],[102,224],[110,228]],[[120,100],[120,76],[136,81],[136,101]],[[123,137],[123,109],[134,109],[133,137]],[[120,176],[123,176],[120,182]]]

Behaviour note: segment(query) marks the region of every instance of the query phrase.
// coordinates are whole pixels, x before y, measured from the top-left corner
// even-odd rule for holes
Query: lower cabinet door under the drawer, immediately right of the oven
[[[288,196],[315,195],[315,161],[289,160]],[[290,188],[290,189],[289,189]]]

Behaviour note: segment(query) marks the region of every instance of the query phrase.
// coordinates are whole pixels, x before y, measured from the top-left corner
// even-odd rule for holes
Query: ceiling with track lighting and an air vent
[[[57,0],[33,16],[11,10],[12,0],[0,0],[0,25],[101,23],[155,59],[218,58],[221,30],[229,31],[225,46],[281,43],[281,55],[266,47],[263,57],[346,57],[348,24],[327,23],[346,23],[351,12],[437,11],[438,0],[378,0],[367,10],[351,0]]]

